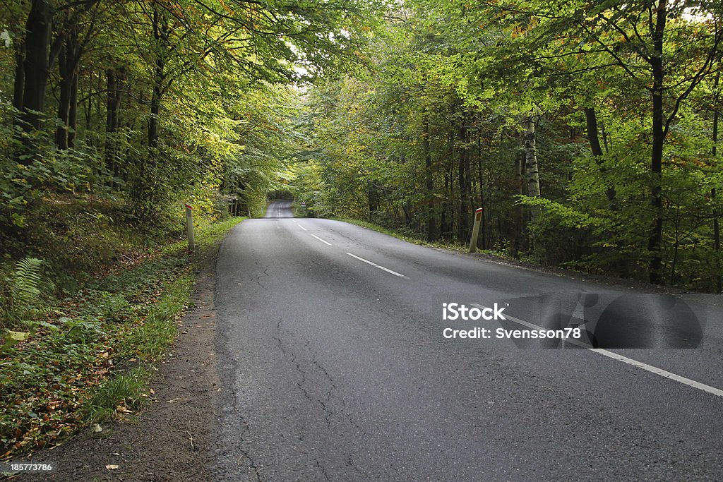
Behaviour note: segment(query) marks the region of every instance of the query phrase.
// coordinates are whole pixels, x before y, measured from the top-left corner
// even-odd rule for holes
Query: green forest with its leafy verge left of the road
[[[369,66],[381,7],[0,0],[0,459],[153,397],[195,271],[293,187],[301,91]]]

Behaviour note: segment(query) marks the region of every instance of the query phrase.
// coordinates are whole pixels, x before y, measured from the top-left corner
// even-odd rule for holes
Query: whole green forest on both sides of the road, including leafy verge
[[[717,0],[0,5],[0,455],[149,396],[184,204],[722,291]]]

